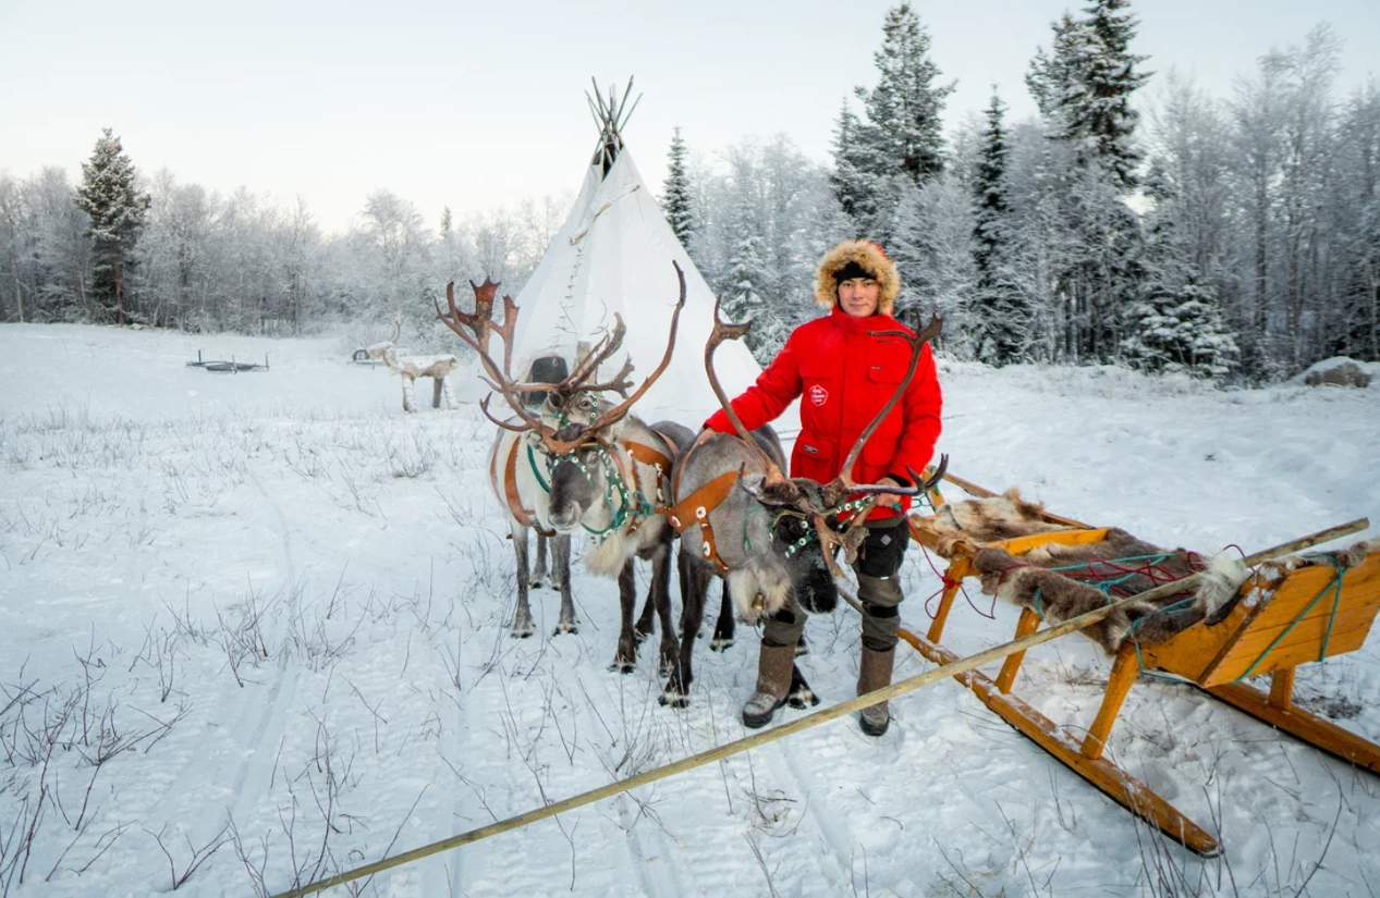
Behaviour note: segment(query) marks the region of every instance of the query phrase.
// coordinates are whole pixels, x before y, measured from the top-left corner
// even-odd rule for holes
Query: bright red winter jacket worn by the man
[[[849,450],[882,406],[896,393],[911,364],[911,349],[898,337],[878,331],[905,331],[890,315],[856,319],[835,308],[827,317],[806,321],[791,332],[785,346],[758,382],[733,400],[742,426],[755,430],[774,421],[796,396],[803,429],[791,452],[791,476],[828,483],[839,475]],[[940,439],[938,377],[926,343],[905,396],[878,425],[853,468],[856,483],[876,483],[891,476],[908,483],[907,466],[922,472]],[[722,410],[704,422],[719,433],[733,433]],[[909,509],[903,497],[901,512]],[[869,519],[893,517],[894,508],[876,508]]]

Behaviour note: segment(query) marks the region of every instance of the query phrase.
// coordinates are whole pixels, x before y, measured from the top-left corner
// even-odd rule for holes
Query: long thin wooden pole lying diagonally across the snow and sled
[[[1299,552],[1301,549],[1308,549],[1311,546],[1323,542],[1329,542],[1332,539],[1337,539],[1340,537],[1346,537],[1348,534],[1359,532],[1369,526],[1370,521],[1362,517],[1348,524],[1341,524],[1340,527],[1330,527],[1328,530],[1322,530],[1315,534],[1300,537],[1299,539],[1292,539],[1278,546],[1265,549],[1264,552],[1257,552],[1256,555],[1248,556],[1245,559],[1245,563],[1248,567],[1256,566],[1260,564],[1261,561],[1268,561],[1270,559],[1279,557],[1282,555],[1289,555],[1293,552]],[[1183,579],[1155,586],[1154,589],[1148,589],[1140,595],[1123,599],[1118,603],[1103,606],[1101,608],[1089,611],[1087,614],[1081,614],[1076,618],[1070,618],[1068,621],[1064,621],[1057,626],[1052,626],[1046,630],[1041,630],[1031,636],[1025,636],[1024,639],[1017,639],[1010,643],[988,648],[987,651],[980,651],[976,655],[969,655],[967,658],[960,658],[959,661],[943,665],[940,668],[934,668],[933,670],[926,670],[925,673],[914,676],[908,680],[893,683],[886,688],[875,690],[872,692],[868,692],[867,695],[858,695],[857,698],[851,698],[846,702],[839,702],[838,705],[825,708],[824,710],[817,710],[811,715],[806,715],[805,717],[798,717],[796,720],[781,724],[780,727],[773,727],[763,732],[758,732],[755,735],[749,735],[747,738],[737,739],[734,742],[726,742],[724,745],[719,745],[707,752],[700,752],[698,755],[691,755],[690,757],[682,759],[672,764],[657,767],[643,774],[638,774],[636,777],[620,779],[618,782],[611,782],[606,786],[600,786],[591,792],[584,792],[581,795],[563,799],[560,801],[553,801],[546,807],[537,808],[534,811],[527,811],[516,817],[509,817],[508,819],[502,819],[495,824],[490,824],[487,826],[480,826],[479,829],[472,829],[466,833],[451,836],[450,839],[433,841],[428,846],[413,848],[411,851],[404,851],[403,854],[397,854],[391,858],[384,858],[382,861],[375,861],[374,864],[366,864],[364,866],[348,870],[345,873],[339,873],[330,879],[324,879],[312,883],[309,886],[302,886],[301,888],[293,888],[286,892],[280,892],[273,898],[299,898],[301,895],[310,895],[324,888],[342,886],[344,883],[363,879],[364,876],[373,876],[374,873],[381,873],[382,870],[388,870],[395,866],[411,864],[413,861],[420,861],[425,857],[431,857],[442,851],[448,851],[450,848],[458,848],[461,846],[468,846],[471,843],[480,841],[482,839],[489,839],[490,836],[505,833],[509,829],[520,829],[522,826],[535,824],[537,821],[556,817],[558,814],[564,814],[566,811],[573,811],[578,807],[593,804],[595,801],[600,801],[603,799],[610,799],[615,795],[628,792],[629,789],[636,789],[638,786],[646,786],[653,782],[657,782],[658,779],[667,779],[668,777],[675,777],[676,774],[694,770],[696,767],[704,767],[705,764],[709,764],[712,761],[723,760],[726,757],[733,757],[734,755],[741,755],[742,752],[748,752],[769,742],[776,742],[777,739],[784,739],[789,735],[795,735],[796,732],[803,732],[805,730],[817,727],[821,723],[828,723],[829,720],[838,720],[839,717],[845,717],[856,710],[869,708],[878,702],[897,698],[900,695],[905,695],[907,692],[914,692],[915,690],[930,686],[931,683],[938,683],[940,680],[947,680],[948,677],[966,673],[969,670],[973,670],[974,668],[983,666],[984,663],[991,663],[992,661],[1000,661],[1002,658],[1012,655],[1014,652],[1027,651],[1029,648],[1034,648],[1035,646],[1042,646],[1047,641],[1060,639],[1061,636],[1068,636],[1070,633],[1078,632],[1086,626],[1097,623],[1098,621],[1104,619],[1122,606],[1126,606],[1132,601],[1162,599],[1165,596],[1173,596],[1176,593],[1184,592],[1185,589],[1196,586],[1202,581],[1202,578],[1203,578],[1202,574],[1191,574]]]

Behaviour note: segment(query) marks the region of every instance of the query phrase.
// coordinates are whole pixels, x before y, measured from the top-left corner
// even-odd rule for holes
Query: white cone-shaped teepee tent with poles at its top
[[[640,383],[665,353],[679,295],[671,265],[675,261],[686,276],[686,306],[680,312],[675,353],[633,411],[647,422],[671,419],[697,430],[719,408],[704,371],[715,297],[622,145],[620,128],[627,120],[627,94],[621,105],[614,99],[613,94],[607,103],[599,99],[596,119],[602,131],[593,164],[585,172],[570,218],[518,295],[513,359],[515,363],[548,355],[573,359],[578,343],[593,342],[613,328],[617,313],[628,327],[628,337],[622,352],[607,364],[617,370],[624,353],[631,355],[632,379]],[[762,368],[740,341],[719,346],[715,371],[731,397],[749,386]],[[788,410],[776,426],[785,435],[799,430],[796,408]]]

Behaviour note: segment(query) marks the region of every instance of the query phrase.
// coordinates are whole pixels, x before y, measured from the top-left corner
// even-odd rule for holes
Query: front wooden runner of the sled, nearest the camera
[[[918,652],[937,665],[958,661],[958,655],[923,636],[916,636],[905,629],[900,632],[900,636]],[[1217,839],[1184,817],[1169,801],[1155,795],[1150,786],[1111,761],[1085,757],[1079,750],[1076,739],[1060,731],[1053,720],[1021,699],[1014,695],[1003,695],[996,688],[996,683],[989,677],[977,670],[969,670],[954,679],[973,690],[973,694],[998,717],[1016,727],[1023,735],[1034,739],[1065,767],[1097,786],[1097,789],[1132,814],[1158,826],[1161,832],[1174,841],[1205,857],[1213,857],[1221,850]]]

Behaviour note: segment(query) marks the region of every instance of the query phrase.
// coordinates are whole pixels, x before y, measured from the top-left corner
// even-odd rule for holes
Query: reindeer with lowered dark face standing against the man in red
[[[867,537],[862,521],[872,512],[876,495],[916,495],[930,490],[944,475],[948,457],[943,457],[929,480],[907,470],[915,486],[896,487],[853,483],[851,472],[858,455],[876,428],[886,419],[905,393],[920,359],[922,345],[938,335],[943,319],[934,316],[918,334],[893,331],[911,343],[911,364],[886,406],[858,436],[843,462],[842,473],[821,484],[805,477],[787,477],[781,444],[770,428],[748,432],[733,411],[729,397],[713,371],[713,352],[724,339],[740,339],[752,323],[729,324],[713,308],[713,331],[704,349],[705,372],[719,404],[729,415],[738,436],[719,435],[694,446],[680,457],[672,473],[671,524],[680,532],[680,543],[693,566],[683,589],[682,612],[686,632],[704,612],[704,593],[709,577],[720,575],[738,614],[756,622],[780,612],[793,595],[809,614],[829,614],[838,604],[836,579],[843,574],[835,555],[843,549],[851,563]],[[851,513],[839,530],[839,516]],[[683,574],[684,575],[684,574]],[[689,640],[683,639],[680,655],[671,673],[661,702],[683,708],[693,681]],[[796,708],[817,704],[800,675],[792,670],[787,701]]]

